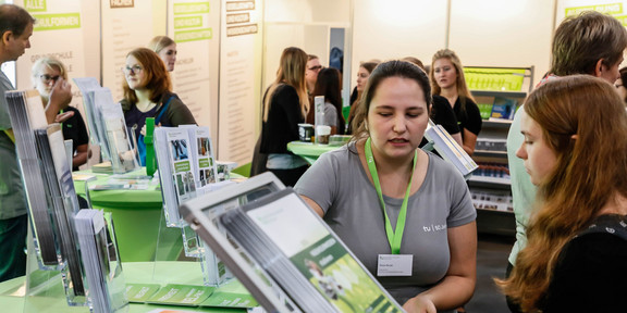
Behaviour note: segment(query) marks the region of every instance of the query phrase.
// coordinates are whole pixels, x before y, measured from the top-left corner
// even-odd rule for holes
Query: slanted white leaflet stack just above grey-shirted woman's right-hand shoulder
[[[464,151],[464,148],[451,137],[448,132],[442,125],[435,125],[429,120],[429,126],[425,132],[425,138],[429,140],[430,145],[426,147],[433,147],[435,151],[448,163],[453,164],[464,178],[468,179],[472,172],[479,166],[475,160]],[[423,148],[425,149],[425,148]]]

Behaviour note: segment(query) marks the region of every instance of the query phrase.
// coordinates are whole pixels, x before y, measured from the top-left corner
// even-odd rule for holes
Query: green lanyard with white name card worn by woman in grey
[[[374,189],[377,189],[377,196],[379,197],[381,210],[383,210],[383,216],[385,216],[385,235],[388,235],[388,242],[390,242],[390,248],[392,250],[391,254],[379,254],[377,262],[377,276],[411,276],[414,255],[399,253],[401,241],[403,240],[403,233],[405,230],[405,221],[407,218],[407,202],[409,200],[409,193],[411,192],[411,178],[414,177],[414,168],[416,167],[418,151],[414,152],[411,175],[409,176],[410,178],[409,183],[407,184],[407,190],[405,191],[405,198],[403,199],[403,204],[401,204],[401,212],[398,212],[398,218],[396,220],[396,231],[394,231],[394,229],[392,229],[390,217],[388,217],[388,212],[385,211],[385,201],[383,201],[383,192],[381,191],[379,173],[377,172],[377,164],[374,163],[374,158],[372,156],[372,146],[370,138],[366,140],[364,150],[366,152],[366,163],[368,164],[370,176],[372,176]]]

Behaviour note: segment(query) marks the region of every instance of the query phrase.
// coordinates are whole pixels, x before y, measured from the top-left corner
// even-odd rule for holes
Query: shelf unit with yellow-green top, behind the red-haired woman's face
[[[480,233],[515,236],[516,221],[512,211],[512,183],[506,148],[512,120],[494,118],[490,115],[496,100],[515,103],[513,110],[524,103],[528,91],[533,88],[533,66],[467,66],[464,72],[468,73],[467,82],[468,76],[474,79],[472,84],[469,84],[471,89],[485,88],[470,91],[484,118],[472,155],[480,168],[468,179],[477,208],[477,228]],[[509,117],[514,114],[515,111]]]

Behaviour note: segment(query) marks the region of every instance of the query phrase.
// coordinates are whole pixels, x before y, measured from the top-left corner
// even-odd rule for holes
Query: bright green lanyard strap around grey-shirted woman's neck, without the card
[[[411,178],[414,177],[414,168],[416,167],[418,151],[414,152],[411,176],[409,176],[410,178],[409,184],[407,184],[407,191],[405,191],[405,198],[403,199],[403,204],[401,204],[401,212],[398,212],[398,220],[396,220],[396,231],[394,231],[392,230],[392,223],[390,223],[388,212],[385,212],[385,202],[383,201],[383,192],[381,192],[381,183],[379,181],[379,174],[377,173],[377,164],[374,164],[374,158],[372,158],[370,138],[366,140],[365,150],[368,170],[370,170],[370,175],[372,176],[372,181],[374,183],[374,189],[377,189],[377,196],[379,196],[379,202],[381,202],[381,209],[383,209],[383,215],[385,216],[385,234],[388,235],[388,241],[390,242],[392,254],[399,254],[401,240],[403,240],[403,231],[405,230],[405,220],[407,218],[407,202],[409,200],[409,192],[411,190]]]

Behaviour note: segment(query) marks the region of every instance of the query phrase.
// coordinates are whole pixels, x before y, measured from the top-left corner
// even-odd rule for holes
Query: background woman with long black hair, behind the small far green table
[[[331,126],[331,135],[344,135],[345,124],[342,116],[342,75],[333,67],[322,68],[318,74],[312,95],[324,96],[324,125]],[[316,110],[309,110],[307,123],[315,124]]]

